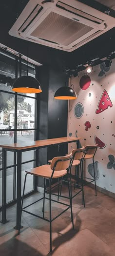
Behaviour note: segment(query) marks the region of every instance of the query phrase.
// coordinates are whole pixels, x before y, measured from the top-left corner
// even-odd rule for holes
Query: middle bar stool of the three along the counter
[[[72,154],[72,163],[71,167],[75,166],[75,183],[72,182],[72,174],[71,174],[71,168],[70,168],[70,192],[71,192],[71,200],[76,197],[81,191],[82,191],[82,204],[85,207],[85,198],[84,198],[84,190],[83,190],[83,178],[82,178],[82,160],[84,157],[84,147],[79,148],[79,149],[73,149],[71,154]],[[66,155],[67,156],[67,155]],[[52,160],[49,160],[48,162],[51,163]],[[77,169],[80,167],[80,176],[81,176],[81,185],[77,184]],[[79,175],[78,175],[79,176]],[[60,184],[60,178],[58,178],[58,199],[59,196],[61,197],[61,190],[62,190],[62,182],[67,182],[66,180],[63,180],[63,177],[61,177],[61,184]],[[74,188],[77,186],[79,191],[72,196],[72,184],[74,184]],[[60,195],[59,195],[59,187],[60,187]]]

